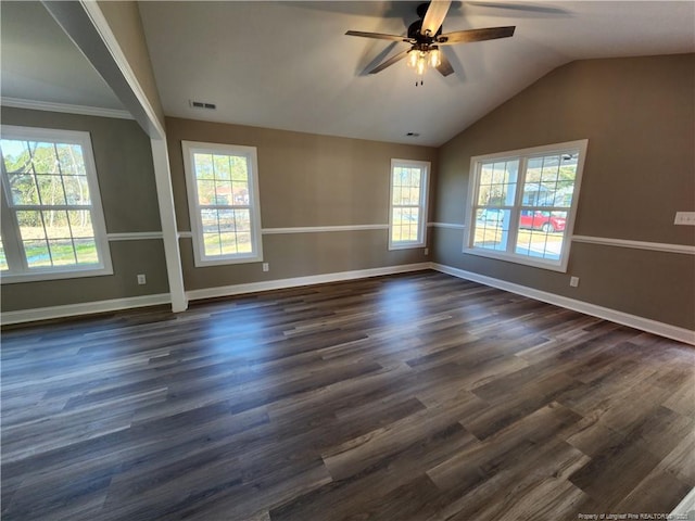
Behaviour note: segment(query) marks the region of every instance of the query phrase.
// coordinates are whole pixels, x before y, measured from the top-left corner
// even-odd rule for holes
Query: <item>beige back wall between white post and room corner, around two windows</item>
[[[263,228],[383,225],[391,158],[432,163],[426,147],[166,118],[176,215],[190,230],[181,140],[257,148]],[[431,206],[430,206],[431,209]],[[195,268],[181,241],[187,290],[427,262],[422,249],[389,252],[387,230],[264,234],[264,262]]]

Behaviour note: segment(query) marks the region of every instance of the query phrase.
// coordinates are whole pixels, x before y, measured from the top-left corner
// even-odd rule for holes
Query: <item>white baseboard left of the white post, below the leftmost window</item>
[[[129,296],[125,298],[112,298],[109,301],[83,302],[64,306],[38,307],[35,309],[21,309],[18,312],[4,312],[0,315],[3,326],[10,323],[34,322],[37,320],[50,320],[53,318],[76,317],[80,315],[93,315],[96,313],[117,312],[134,307],[156,306],[168,304],[172,300],[168,293],[156,295]]]

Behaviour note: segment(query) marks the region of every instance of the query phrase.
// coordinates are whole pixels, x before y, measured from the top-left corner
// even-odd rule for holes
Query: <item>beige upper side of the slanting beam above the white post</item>
[[[164,126],[164,111],[150,63],[150,52],[144,39],[138,3],[134,1],[100,1],[99,9],[118,40],[118,46],[121,46],[121,50],[150,105],[152,105],[160,124]]]

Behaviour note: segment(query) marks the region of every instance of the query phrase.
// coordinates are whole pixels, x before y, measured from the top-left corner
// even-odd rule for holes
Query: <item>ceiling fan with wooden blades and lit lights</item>
[[[442,34],[442,23],[451,3],[451,0],[432,0],[418,5],[417,15],[419,20],[410,24],[407,37],[384,35],[382,33],[364,33],[362,30],[349,30],[345,35],[409,43],[409,49],[377,65],[369,71],[369,74],[377,74],[407,56],[408,66],[413,67],[417,74],[416,86],[422,85],[422,77],[428,66],[437,68],[442,76],[448,76],[454,72],[444,53],[440,51],[440,46],[494,40],[514,35],[515,26],[455,30],[454,33]]]

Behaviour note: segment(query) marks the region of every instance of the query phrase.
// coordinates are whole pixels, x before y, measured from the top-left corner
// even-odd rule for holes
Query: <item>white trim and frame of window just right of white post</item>
[[[261,226],[261,196],[258,188],[258,158],[255,147],[240,144],[205,143],[200,141],[181,141],[184,151],[184,170],[186,173],[186,188],[188,193],[188,215],[190,217],[193,239],[193,260],[195,267],[223,266],[228,264],[245,264],[263,262],[263,239]],[[250,254],[216,255],[208,257],[204,254],[203,224],[198,204],[198,183],[193,170],[193,154],[195,152],[218,152],[228,155],[243,155],[248,158],[249,167],[249,201],[251,205],[251,240],[254,251]]]

